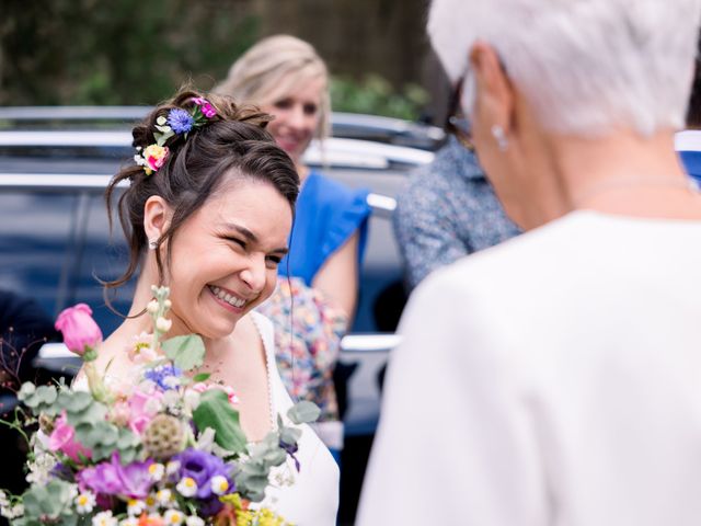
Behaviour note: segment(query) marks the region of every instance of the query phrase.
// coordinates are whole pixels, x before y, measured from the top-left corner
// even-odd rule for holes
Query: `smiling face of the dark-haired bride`
[[[230,334],[273,294],[291,224],[289,203],[272,184],[225,185],[173,237],[168,282],[175,325],[210,339]]]

